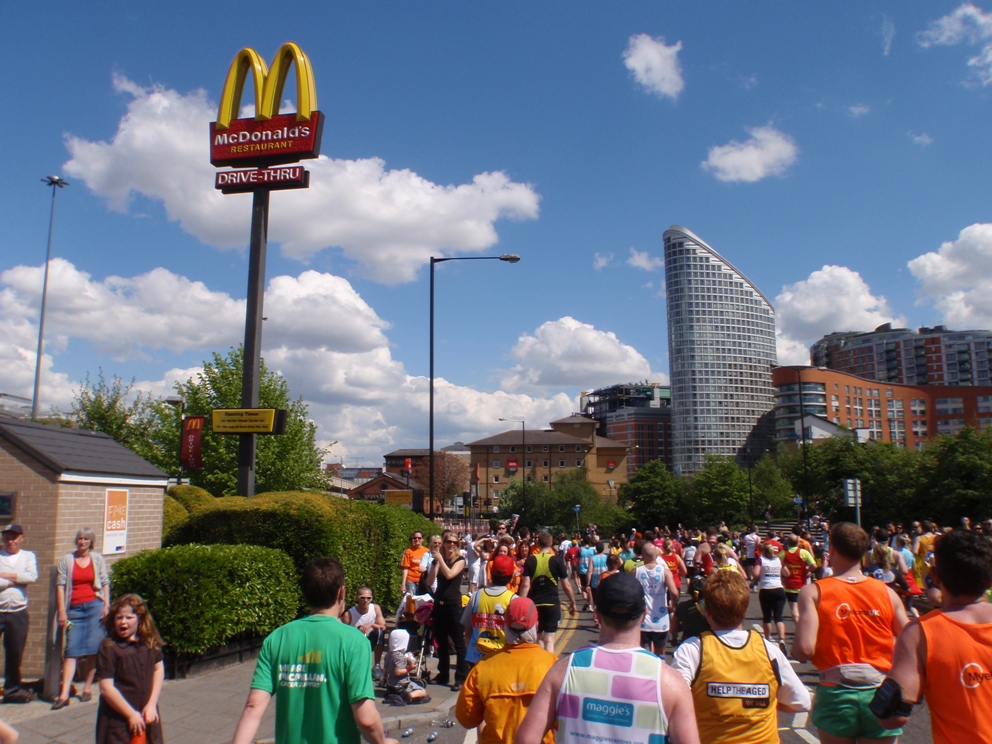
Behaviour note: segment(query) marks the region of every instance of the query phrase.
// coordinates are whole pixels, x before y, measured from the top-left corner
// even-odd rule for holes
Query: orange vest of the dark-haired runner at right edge
[[[933,610],[920,618],[920,628],[935,744],[992,744],[992,623],[968,625]]]

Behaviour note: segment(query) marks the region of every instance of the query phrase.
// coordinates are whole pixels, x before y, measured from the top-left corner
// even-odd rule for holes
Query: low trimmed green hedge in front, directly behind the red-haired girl
[[[299,580],[284,552],[254,545],[178,545],[113,564],[114,595],[139,594],[174,654],[263,637],[296,616]]]

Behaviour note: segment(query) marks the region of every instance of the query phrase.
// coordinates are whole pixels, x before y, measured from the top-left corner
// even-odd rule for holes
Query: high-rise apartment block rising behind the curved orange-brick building
[[[988,385],[992,331],[944,326],[831,333],[810,347],[815,367],[905,385]]]

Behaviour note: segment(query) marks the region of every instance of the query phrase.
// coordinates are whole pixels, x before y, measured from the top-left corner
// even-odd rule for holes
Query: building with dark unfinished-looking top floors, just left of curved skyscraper
[[[672,467],[672,389],[628,382],[583,391],[581,410],[599,422],[597,433],[627,445],[627,477],[650,460]]]

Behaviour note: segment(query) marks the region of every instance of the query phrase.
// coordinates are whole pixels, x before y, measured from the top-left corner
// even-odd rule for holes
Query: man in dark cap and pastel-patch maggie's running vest
[[[598,645],[583,646],[551,667],[520,724],[516,744],[540,744],[556,723],[555,740],[566,744],[699,744],[685,680],[641,648],[645,609],[644,589],[630,574],[599,582]]]

